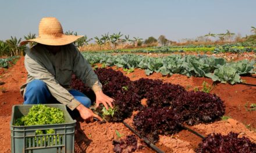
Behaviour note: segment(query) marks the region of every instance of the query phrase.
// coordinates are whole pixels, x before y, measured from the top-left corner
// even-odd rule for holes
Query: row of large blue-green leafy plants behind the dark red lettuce
[[[182,74],[187,77],[208,77],[221,83],[232,85],[242,82],[241,75],[255,74],[255,60],[227,62],[214,56],[181,56],[172,54],[163,57],[149,57],[136,54],[83,53],[90,64],[102,63],[122,68],[141,68],[146,75],[160,72],[162,75]]]

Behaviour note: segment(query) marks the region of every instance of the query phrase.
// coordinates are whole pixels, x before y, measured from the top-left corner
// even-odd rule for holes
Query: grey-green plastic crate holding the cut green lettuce
[[[54,125],[15,126],[15,121],[27,115],[33,105],[13,105],[10,121],[12,153],[70,153],[74,152],[74,126],[76,120],[67,112],[62,104],[45,104],[57,107],[64,112],[65,123]],[[35,134],[36,130],[54,129],[53,134]]]

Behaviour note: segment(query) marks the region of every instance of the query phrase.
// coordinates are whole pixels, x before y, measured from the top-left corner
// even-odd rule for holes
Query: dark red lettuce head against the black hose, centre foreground
[[[133,118],[133,125],[141,136],[147,137],[151,143],[156,143],[159,134],[179,132],[182,125],[182,116],[175,114],[168,107],[144,108]]]

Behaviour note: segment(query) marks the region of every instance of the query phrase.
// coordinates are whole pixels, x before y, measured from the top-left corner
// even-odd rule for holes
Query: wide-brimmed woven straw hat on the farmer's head
[[[44,45],[61,46],[67,45],[83,37],[83,35],[63,34],[61,23],[55,17],[44,17],[41,19],[38,28],[39,37],[20,42],[25,45],[28,42],[37,42]]]

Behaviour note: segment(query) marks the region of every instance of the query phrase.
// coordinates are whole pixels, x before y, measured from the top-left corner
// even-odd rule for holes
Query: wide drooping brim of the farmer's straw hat
[[[20,42],[20,45],[26,45],[29,42],[37,42],[44,45],[51,45],[51,46],[62,46],[67,45],[69,43],[72,43],[76,41],[77,39],[84,37],[83,35],[65,35],[63,34],[61,37],[55,37],[55,38],[35,38],[35,39],[29,39],[26,41]]]

